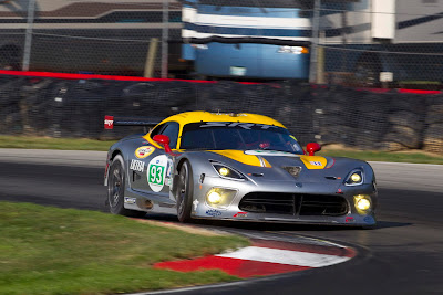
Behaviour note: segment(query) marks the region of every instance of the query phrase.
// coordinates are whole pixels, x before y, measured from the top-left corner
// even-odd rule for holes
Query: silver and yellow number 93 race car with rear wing
[[[105,127],[150,125],[106,116]],[[115,214],[374,226],[371,166],[316,156],[279,122],[256,114],[187,112],[109,152],[104,185]]]

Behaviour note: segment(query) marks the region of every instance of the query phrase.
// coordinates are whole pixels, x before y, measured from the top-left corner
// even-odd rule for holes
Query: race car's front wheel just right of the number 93
[[[178,173],[175,199],[177,200],[177,218],[181,222],[190,221],[190,208],[193,202],[193,172],[188,161],[182,165]]]

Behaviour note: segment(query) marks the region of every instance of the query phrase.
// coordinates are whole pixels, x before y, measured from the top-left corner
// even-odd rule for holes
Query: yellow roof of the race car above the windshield
[[[281,123],[270,117],[257,114],[249,114],[249,113],[226,114],[226,113],[209,113],[204,110],[196,110],[196,112],[186,112],[173,115],[162,120],[161,124],[167,122],[177,122],[182,126],[189,123],[198,123],[198,122],[239,122],[239,123],[274,125],[286,128]]]

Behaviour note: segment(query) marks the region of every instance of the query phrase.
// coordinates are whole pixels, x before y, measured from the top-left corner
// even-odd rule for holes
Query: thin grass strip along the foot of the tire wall
[[[107,149],[115,140],[95,140],[78,138],[50,138],[31,136],[3,136],[0,135],[0,148],[31,148],[31,149],[65,149],[65,150],[102,150]],[[319,156],[349,157],[367,161],[396,161],[443,164],[443,156],[415,151],[362,151],[342,146],[326,146],[318,152]]]

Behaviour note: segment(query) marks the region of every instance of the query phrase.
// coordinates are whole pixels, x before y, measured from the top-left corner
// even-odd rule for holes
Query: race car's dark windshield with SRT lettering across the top
[[[303,150],[285,128],[236,122],[200,122],[183,127],[182,149],[269,149],[302,155]]]

